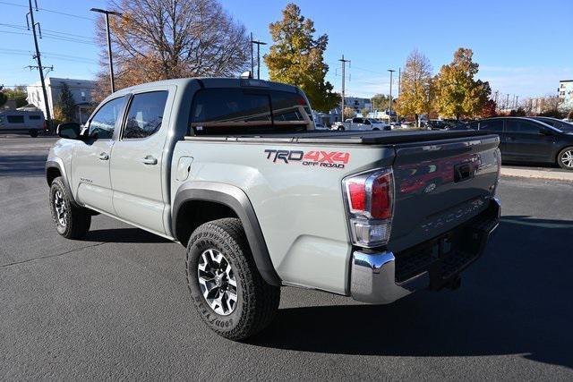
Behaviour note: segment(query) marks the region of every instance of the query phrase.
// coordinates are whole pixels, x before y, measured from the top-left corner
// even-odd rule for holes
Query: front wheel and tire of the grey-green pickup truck
[[[64,212],[60,212],[60,216],[64,216],[64,223],[61,222],[56,211],[56,198],[64,201]],[[81,239],[90,231],[91,214],[87,208],[73,206],[71,196],[64,186],[64,181],[61,176],[58,176],[50,186],[50,212],[52,220],[56,225],[57,233],[64,236],[66,239]],[[62,211],[62,209],[60,209]]]

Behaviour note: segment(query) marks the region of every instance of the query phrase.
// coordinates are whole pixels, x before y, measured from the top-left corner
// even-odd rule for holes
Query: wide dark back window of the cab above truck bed
[[[310,108],[296,93],[276,90],[202,89],[193,98],[197,135],[304,131]]]

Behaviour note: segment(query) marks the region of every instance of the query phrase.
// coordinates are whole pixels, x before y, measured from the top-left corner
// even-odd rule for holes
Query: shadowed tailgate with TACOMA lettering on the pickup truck
[[[498,136],[486,135],[396,145],[389,250],[432,239],[487,208],[499,175],[498,144]]]

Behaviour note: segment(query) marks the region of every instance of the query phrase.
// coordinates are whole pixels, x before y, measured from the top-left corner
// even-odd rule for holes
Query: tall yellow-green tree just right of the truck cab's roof
[[[332,91],[330,82],[324,80],[329,71],[323,57],[328,36],[314,38],[314,23],[301,15],[295,4],[287,4],[282,20],[272,22],[269,30],[274,44],[264,60],[270,81],[303,89],[315,110],[326,113],[336,107],[340,96]]]

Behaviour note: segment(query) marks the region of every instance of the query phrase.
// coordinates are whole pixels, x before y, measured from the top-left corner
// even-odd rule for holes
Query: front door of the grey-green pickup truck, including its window
[[[109,158],[114,146],[115,127],[119,125],[124,97],[100,106],[87,124],[89,139],[79,142],[73,152],[72,188],[76,199],[88,207],[115,214],[109,178]]]

